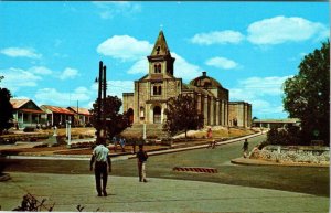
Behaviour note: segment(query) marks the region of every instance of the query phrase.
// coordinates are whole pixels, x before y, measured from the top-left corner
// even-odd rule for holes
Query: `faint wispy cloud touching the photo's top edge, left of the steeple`
[[[129,17],[141,12],[141,6],[128,1],[93,2],[98,8],[102,19],[113,19],[116,15]]]

